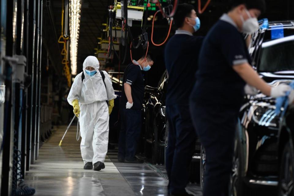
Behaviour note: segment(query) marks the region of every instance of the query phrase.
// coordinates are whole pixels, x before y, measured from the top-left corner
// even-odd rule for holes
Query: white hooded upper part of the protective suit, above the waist
[[[86,67],[93,67],[97,73],[93,76],[86,74]],[[112,81],[106,71],[103,71],[105,86],[102,76],[99,72],[99,61],[95,56],[88,56],[83,63],[83,72],[85,79],[82,82],[82,73],[78,74],[74,79],[74,83],[70,89],[67,101],[72,105],[73,100],[79,100],[80,104],[92,104],[96,101],[106,101],[116,98]]]

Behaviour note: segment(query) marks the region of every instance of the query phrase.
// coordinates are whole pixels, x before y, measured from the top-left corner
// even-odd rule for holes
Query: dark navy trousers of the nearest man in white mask
[[[203,196],[228,196],[238,109],[190,102],[190,112],[206,151]]]

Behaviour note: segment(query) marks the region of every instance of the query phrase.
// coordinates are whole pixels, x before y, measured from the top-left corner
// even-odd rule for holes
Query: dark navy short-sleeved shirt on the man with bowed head
[[[135,63],[138,64],[138,62],[135,62]],[[131,85],[131,93],[132,93],[132,99],[133,99],[133,107],[131,107],[131,109],[133,110],[142,109],[145,85],[144,85],[144,77],[142,74],[141,66],[131,63],[126,67],[124,75],[123,75],[123,84],[125,83]],[[122,97],[120,100],[120,106],[126,108],[127,101],[128,100],[126,98],[125,90],[124,88],[122,88]]]

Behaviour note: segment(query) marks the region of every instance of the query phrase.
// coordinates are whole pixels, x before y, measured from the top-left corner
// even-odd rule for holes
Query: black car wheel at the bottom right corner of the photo
[[[280,180],[278,186],[279,196],[294,195],[294,155],[291,150],[290,142],[287,142],[281,156]]]

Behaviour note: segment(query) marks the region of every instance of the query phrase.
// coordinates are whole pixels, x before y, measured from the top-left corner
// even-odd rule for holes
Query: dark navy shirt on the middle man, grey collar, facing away
[[[166,105],[187,105],[195,83],[198,55],[203,37],[177,30],[165,46],[165,66],[168,72]]]

